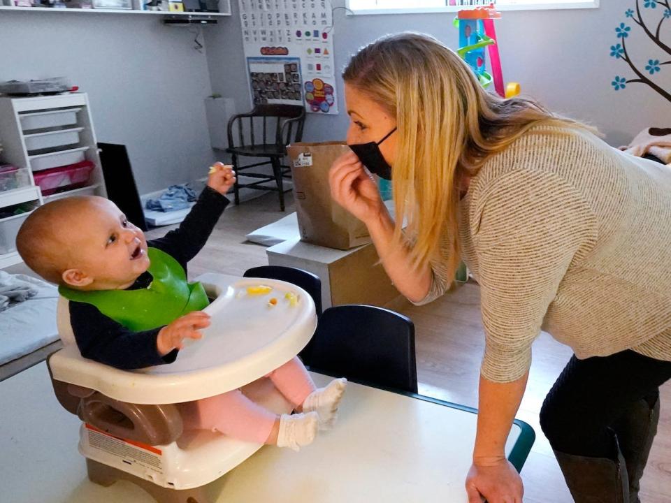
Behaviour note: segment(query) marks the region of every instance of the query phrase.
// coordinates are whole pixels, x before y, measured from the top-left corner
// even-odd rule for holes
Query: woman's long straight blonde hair
[[[453,278],[459,267],[459,184],[487,157],[537,124],[583,127],[529,99],[486,92],[454,51],[415,33],[385,36],[361,48],[342,78],[396,117],[394,205],[398,242],[407,242],[418,268],[441,261]],[[442,249],[448,250],[441,257]],[[447,263],[445,260],[447,259]]]

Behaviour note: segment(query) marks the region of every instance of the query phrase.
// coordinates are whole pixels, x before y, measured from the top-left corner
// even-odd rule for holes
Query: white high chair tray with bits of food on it
[[[69,344],[50,360],[53,377],[137,404],[199,400],[244,386],[291,360],[317,326],[315,303],[303,289],[274,279],[203,275],[216,299],[204,310],[211,324],[203,339],[185,340],[174,363],[119,370],[83,358]],[[259,285],[269,293],[250,293]],[[295,295],[291,302],[287,294]],[[270,302],[275,299],[276,304]]]

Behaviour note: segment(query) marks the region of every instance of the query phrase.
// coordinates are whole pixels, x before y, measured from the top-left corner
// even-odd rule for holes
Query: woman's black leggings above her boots
[[[671,362],[630,350],[585,360],[572,356],[545,398],[540,426],[556,451],[612,458],[611,425],[638,400],[654,405],[659,386],[670,378]]]

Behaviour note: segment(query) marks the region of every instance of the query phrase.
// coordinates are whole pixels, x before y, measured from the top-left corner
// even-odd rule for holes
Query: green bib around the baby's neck
[[[68,300],[94,305],[134,332],[167,325],[210,303],[203,285],[187,283],[187,274],[175,258],[157,248],[147,249],[147,254],[153,279],[145,289],[81,291],[60,286],[58,291]]]

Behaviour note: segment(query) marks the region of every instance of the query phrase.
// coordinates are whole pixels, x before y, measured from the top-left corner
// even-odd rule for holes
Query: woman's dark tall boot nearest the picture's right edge
[[[633,407],[614,424],[620,450],[627,464],[629,476],[629,500],[640,503],[638,492],[643,469],[648,461],[652,441],[657,434],[659,421],[659,393],[647,399],[638,400]]]

